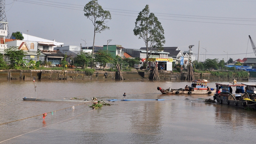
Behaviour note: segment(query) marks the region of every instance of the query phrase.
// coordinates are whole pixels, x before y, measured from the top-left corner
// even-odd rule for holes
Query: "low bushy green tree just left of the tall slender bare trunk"
[[[92,53],[85,53],[83,51],[78,54],[74,59],[74,64],[79,67],[87,68],[87,64],[92,61]]]

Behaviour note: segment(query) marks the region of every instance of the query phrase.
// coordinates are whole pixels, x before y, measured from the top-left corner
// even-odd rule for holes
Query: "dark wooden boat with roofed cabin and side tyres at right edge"
[[[252,97],[247,92],[244,92],[243,87],[244,84],[238,84],[236,80],[233,83],[216,83],[216,89],[219,89],[220,93],[215,93],[213,99],[221,104],[256,110],[256,101],[251,99]]]

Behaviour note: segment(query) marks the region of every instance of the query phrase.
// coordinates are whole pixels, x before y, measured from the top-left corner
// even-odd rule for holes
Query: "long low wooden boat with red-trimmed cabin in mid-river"
[[[193,80],[191,86],[188,86],[188,89],[162,89],[157,87],[157,90],[161,91],[162,94],[204,94],[210,95],[215,92],[213,88],[207,88],[207,80]]]

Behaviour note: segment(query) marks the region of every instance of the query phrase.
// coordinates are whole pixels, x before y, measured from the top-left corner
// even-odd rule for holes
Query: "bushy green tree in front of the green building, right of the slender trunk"
[[[95,61],[101,63],[100,66],[105,68],[107,63],[113,61],[112,55],[106,50],[99,50],[98,53],[95,53]]]

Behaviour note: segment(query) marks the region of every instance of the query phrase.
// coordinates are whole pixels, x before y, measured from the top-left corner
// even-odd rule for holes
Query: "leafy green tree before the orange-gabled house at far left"
[[[7,63],[9,64],[9,69],[19,69],[21,64],[26,63],[26,61],[23,60],[23,57],[26,56],[26,52],[19,50],[18,47],[7,48],[4,52],[5,56],[8,56]]]

